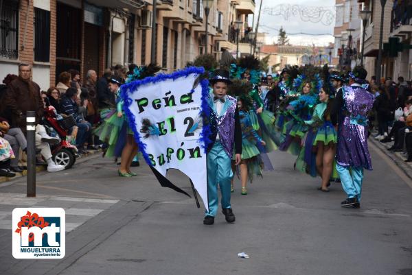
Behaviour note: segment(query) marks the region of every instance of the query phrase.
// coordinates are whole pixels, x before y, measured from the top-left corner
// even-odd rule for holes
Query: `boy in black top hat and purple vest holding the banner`
[[[240,128],[237,101],[226,95],[231,84],[229,71],[216,70],[209,80],[213,92],[209,94],[209,123],[211,128],[211,143],[207,153],[207,196],[209,211],[205,213],[203,224],[214,224],[218,211],[218,184],[222,193],[222,213],[229,223],[235,222],[231,209],[231,158],[233,147],[236,165],[240,163],[242,154],[242,130]]]

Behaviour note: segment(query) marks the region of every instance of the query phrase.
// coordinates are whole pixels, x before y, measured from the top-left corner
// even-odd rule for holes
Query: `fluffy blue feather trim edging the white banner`
[[[136,129],[136,117],[133,115],[133,112],[130,112],[130,105],[133,104],[133,100],[128,97],[128,94],[133,94],[139,91],[139,86],[146,85],[146,84],[151,84],[151,83],[157,83],[161,82],[163,80],[176,80],[180,77],[187,77],[191,75],[192,73],[196,73],[198,75],[201,75],[202,73],[205,72],[205,69],[203,67],[188,67],[180,71],[175,71],[174,73],[171,74],[165,74],[165,73],[160,73],[159,75],[156,75],[154,77],[146,77],[143,80],[136,80],[130,83],[123,84],[121,88],[121,93],[120,97],[124,99],[124,112],[126,113],[126,117],[128,118],[128,125],[130,129],[133,131],[135,135],[135,141],[137,145],[139,146],[139,150],[141,154],[144,157],[144,160],[146,160],[146,163],[149,166],[152,166],[152,162],[146,152],[146,144],[141,141],[141,136],[139,132]],[[201,113],[203,115],[209,115],[209,105],[207,104],[207,97],[209,96],[209,81],[208,80],[202,80],[201,81],[201,86],[202,86],[202,105],[201,105]],[[192,90],[194,91],[194,90]],[[206,96],[205,96],[206,95]],[[201,134],[201,139],[199,141],[203,141],[204,147],[207,150],[207,145],[211,142],[209,140],[209,135],[211,131],[208,125],[203,125],[203,130]],[[205,138],[205,134],[207,134]]]

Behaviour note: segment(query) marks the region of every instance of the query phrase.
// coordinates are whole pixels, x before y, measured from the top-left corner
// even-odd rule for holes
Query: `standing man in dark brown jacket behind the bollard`
[[[19,78],[10,82],[4,97],[4,104],[12,112],[11,127],[19,127],[26,132],[27,111],[36,112],[36,123],[43,116],[43,100],[40,87],[30,80],[32,67],[19,64]]]

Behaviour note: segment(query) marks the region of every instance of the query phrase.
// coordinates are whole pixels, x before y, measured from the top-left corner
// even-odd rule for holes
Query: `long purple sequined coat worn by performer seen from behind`
[[[367,147],[367,114],[374,104],[374,95],[361,86],[346,86],[343,88],[343,101],[336,162],[343,167],[371,170],[371,156]]]

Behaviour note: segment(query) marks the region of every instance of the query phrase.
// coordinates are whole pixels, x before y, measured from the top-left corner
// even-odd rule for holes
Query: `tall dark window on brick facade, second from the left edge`
[[[50,12],[34,8],[34,60],[50,60]]]

